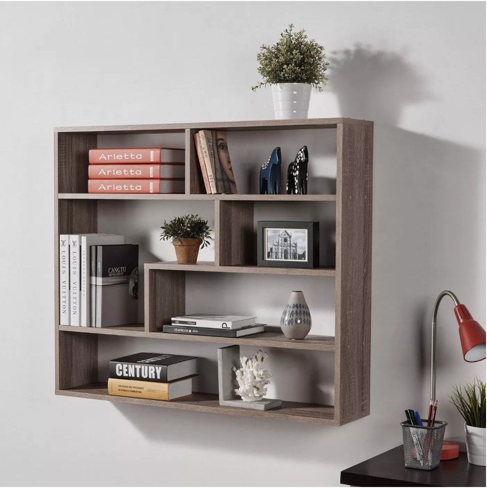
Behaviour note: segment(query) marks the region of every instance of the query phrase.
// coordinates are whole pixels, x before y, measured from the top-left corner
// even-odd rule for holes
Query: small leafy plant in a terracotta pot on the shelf
[[[198,215],[183,215],[175,217],[171,222],[162,225],[161,240],[172,239],[179,264],[194,264],[198,260],[201,248],[210,244],[210,228],[208,221]]]

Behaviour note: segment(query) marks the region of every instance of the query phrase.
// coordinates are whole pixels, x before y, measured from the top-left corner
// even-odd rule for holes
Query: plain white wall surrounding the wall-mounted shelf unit
[[[429,398],[436,295],[451,288],[486,324],[485,8],[1,2],[1,483],[337,486],[399,445],[404,409]],[[333,61],[310,117],[376,123],[371,415],[316,427],[55,397],[52,127],[272,118],[269,90],[250,91],[255,56],[289,22]],[[438,418],[463,440],[447,396],[485,364],[463,362],[455,329],[445,303]]]

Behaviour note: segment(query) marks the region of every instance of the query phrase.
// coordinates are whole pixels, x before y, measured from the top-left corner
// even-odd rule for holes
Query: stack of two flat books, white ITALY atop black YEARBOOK
[[[241,315],[213,315],[195,313],[171,318],[162,332],[212,337],[244,337],[264,332],[264,324],[256,324],[256,317]]]

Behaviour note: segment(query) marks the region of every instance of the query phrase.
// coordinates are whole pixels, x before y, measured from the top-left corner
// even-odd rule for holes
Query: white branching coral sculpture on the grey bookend
[[[259,349],[251,358],[245,356],[240,358],[242,364],[240,369],[237,369],[236,366],[232,368],[237,376],[235,385],[239,386],[239,388],[235,388],[235,393],[240,395],[244,402],[262,400],[262,397],[267,393],[265,385],[268,385],[270,383],[269,378],[272,378],[272,374],[264,369],[267,356],[266,352]]]

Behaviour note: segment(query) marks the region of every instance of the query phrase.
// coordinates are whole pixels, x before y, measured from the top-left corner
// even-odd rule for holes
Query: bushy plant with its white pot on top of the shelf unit
[[[264,81],[252,90],[271,85],[276,119],[307,119],[311,87],[322,91],[328,81],[324,47],[293,28],[289,24],[276,44],[263,44],[257,55]]]

